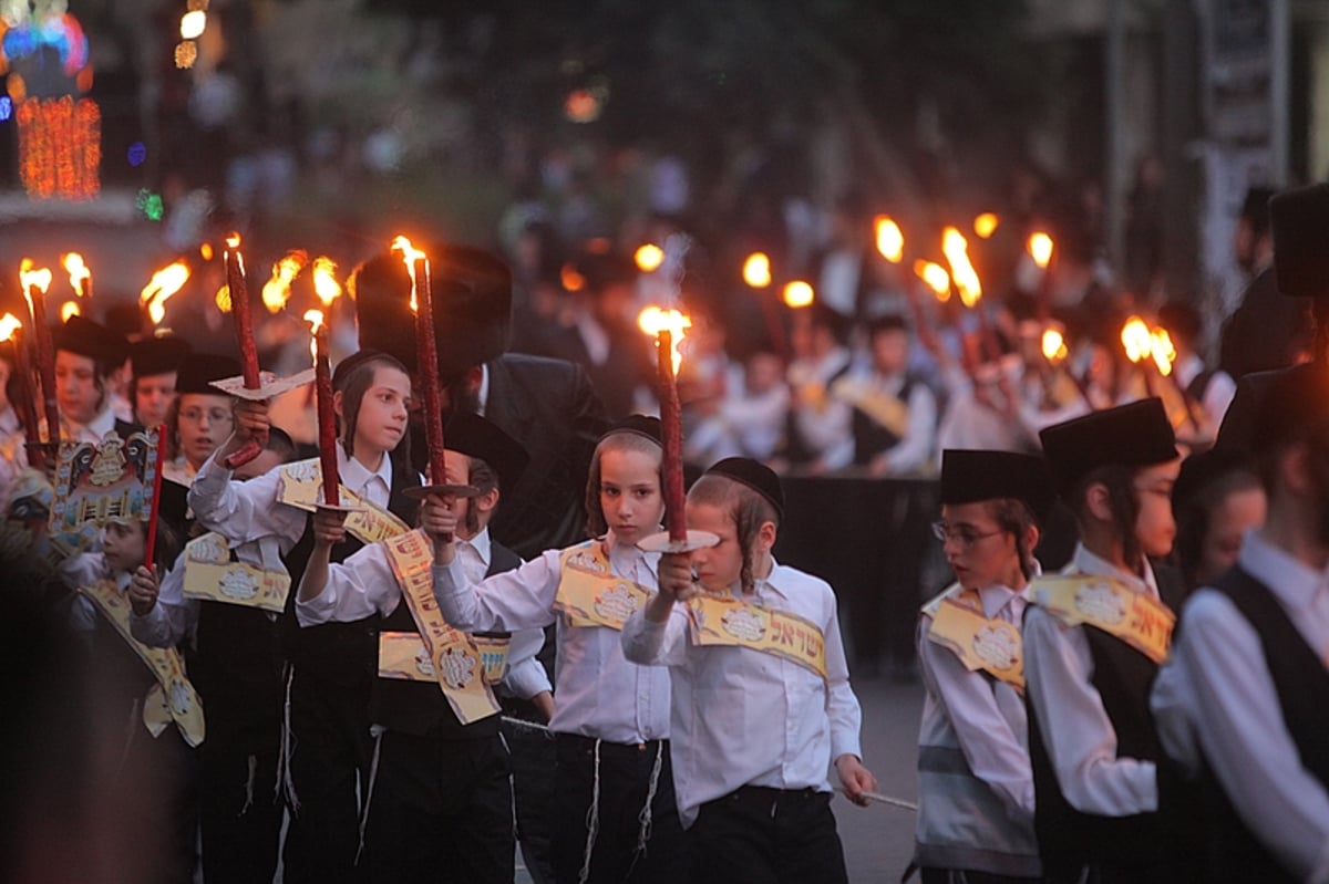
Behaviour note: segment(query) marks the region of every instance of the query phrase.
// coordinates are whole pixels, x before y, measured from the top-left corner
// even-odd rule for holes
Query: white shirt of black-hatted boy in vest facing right
[[[1158,599],[1148,563],[1144,580],[1076,544],[1065,573],[1115,577]],[[1025,617],[1026,692],[1037,713],[1057,783],[1083,814],[1131,816],[1158,810],[1154,762],[1116,757],[1116,730],[1094,688],[1094,658],[1084,626],[1067,626],[1034,605]]]

